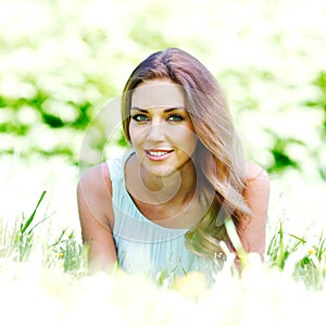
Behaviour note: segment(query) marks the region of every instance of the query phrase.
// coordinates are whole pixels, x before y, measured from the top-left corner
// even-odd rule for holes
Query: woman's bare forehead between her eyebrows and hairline
[[[181,86],[168,79],[153,79],[141,83],[131,96],[131,108],[185,108]]]

